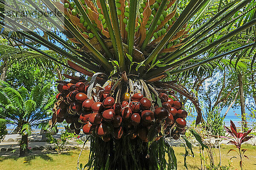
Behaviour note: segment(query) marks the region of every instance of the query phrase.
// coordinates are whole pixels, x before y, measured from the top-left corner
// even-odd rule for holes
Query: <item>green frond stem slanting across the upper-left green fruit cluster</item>
[[[88,23],[88,26],[90,26],[93,34],[95,35],[95,37],[97,38],[97,40],[99,41],[99,44],[102,46],[102,48],[104,49],[104,51],[106,52],[107,56],[109,59],[112,59],[112,54],[111,52],[108,50],[108,47],[105,45],[105,43],[103,42],[102,38],[100,37],[98,31],[96,30],[95,26],[93,26],[93,23],[91,22],[90,18],[88,17],[88,15],[86,14],[85,10],[84,10],[84,6],[81,3],[80,0],[74,0],[76,7],[79,9],[79,11],[81,12],[81,15],[84,17],[85,21]]]

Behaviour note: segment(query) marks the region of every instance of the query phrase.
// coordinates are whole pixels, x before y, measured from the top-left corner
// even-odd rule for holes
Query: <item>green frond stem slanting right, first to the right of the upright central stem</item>
[[[159,20],[163,10],[164,10],[164,7],[166,6],[166,3],[167,3],[168,0],[162,0],[161,2],[161,5],[160,7],[158,8],[157,10],[157,14],[156,16],[154,17],[150,27],[149,27],[149,30],[148,30],[148,34],[146,35],[145,37],[145,40],[143,41],[141,47],[140,47],[140,51],[143,52],[146,48],[146,46],[148,45],[148,42],[150,41],[152,35],[153,35],[153,31],[154,31],[154,28],[157,26],[157,21]]]

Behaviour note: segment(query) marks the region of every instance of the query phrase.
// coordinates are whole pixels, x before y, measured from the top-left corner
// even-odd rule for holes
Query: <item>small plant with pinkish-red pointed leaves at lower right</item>
[[[239,133],[239,132],[237,132],[236,126],[232,122],[232,120],[230,120],[230,129],[226,126],[224,126],[224,127],[225,127],[227,133],[229,133],[232,137],[227,137],[227,136],[221,136],[221,137],[229,140],[228,143],[235,145],[239,150],[239,152],[238,152],[236,150],[230,149],[228,151],[228,153],[230,151],[235,151],[239,155],[239,157],[240,157],[240,162],[239,162],[240,167],[241,167],[241,170],[243,170],[243,158],[244,157],[247,158],[247,159],[249,159],[249,158],[246,155],[244,155],[244,153],[247,149],[241,149],[241,144],[253,137],[253,136],[247,136],[252,131],[252,129],[248,130],[246,133]],[[233,159],[233,158],[237,158],[237,157],[233,156],[230,159]]]

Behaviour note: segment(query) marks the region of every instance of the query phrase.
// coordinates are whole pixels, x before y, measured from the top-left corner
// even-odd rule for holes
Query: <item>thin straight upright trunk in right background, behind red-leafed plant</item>
[[[246,132],[247,121],[246,121],[246,115],[245,115],[245,99],[244,99],[243,77],[244,77],[243,74],[238,73],[240,106],[241,106],[241,117],[242,117],[242,130],[243,130],[243,132]]]

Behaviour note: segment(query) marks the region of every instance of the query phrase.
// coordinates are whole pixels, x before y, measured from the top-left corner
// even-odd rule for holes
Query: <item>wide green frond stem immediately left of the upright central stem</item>
[[[111,18],[113,21],[112,23],[113,23],[114,33],[116,36],[116,45],[117,45],[117,51],[118,51],[120,71],[125,71],[126,70],[125,54],[123,51],[121,32],[120,32],[120,27],[119,27],[117,12],[116,12],[116,1],[108,0],[108,4],[109,4],[110,12],[111,12]]]

